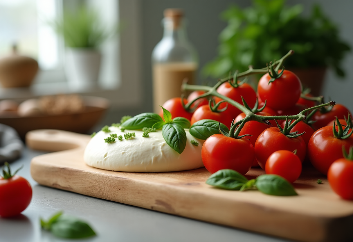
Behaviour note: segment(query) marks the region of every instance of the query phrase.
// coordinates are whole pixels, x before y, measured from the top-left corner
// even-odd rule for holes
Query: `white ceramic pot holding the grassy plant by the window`
[[[67,48],[65,74],[72,90],[85,90],[97,86],[101,53],[89,48]]]

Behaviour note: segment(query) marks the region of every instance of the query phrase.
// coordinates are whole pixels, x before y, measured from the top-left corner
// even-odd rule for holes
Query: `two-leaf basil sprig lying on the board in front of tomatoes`
[[[245,191],[257,189],[264,194],[276,196],[298,195],[294,187],[283,177],[273,174],[264,174],[256,179],[248,180],[244,175],[231,169],[222,169],[213,173],[206,184],[227,190]]]

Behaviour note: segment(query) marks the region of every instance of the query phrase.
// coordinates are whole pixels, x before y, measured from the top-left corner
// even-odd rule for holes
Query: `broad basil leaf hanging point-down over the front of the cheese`
[[[186,146],[186,133],[178,123],[166,123],[162,127],[162,135],[167,144],[179,154],[184,151]]]

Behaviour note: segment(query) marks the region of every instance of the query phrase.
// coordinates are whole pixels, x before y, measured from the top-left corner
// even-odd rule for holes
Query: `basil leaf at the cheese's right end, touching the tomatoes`
[[[213,134],[220,133],[218,123],[218,121],[211,119],[199,120],[190,127],[190,134],[198,139],[207,139]],[[221,123],[221,128],[224,131],[229,132],[229,129],[223,123]]]

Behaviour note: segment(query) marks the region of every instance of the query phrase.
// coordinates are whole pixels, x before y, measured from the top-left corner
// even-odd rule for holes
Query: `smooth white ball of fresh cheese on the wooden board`
[[[199,140],[186,132],[186,147],[179,154],[164,140],[162,131],[149,133],[149,137],[142,137],[141,130],[120,131],[118,127],[109,127],[109,133],[100,131],[88,143],[84,152],[84,161],[87,165],[110,171],[124,172],[172,172],[184,171],[203,167],[201,148],[204,140]],[[124,134],[135,132],[136,137],[129,139],[115,138],[113,143],[104,143],[109,134]],[[195,146],[190,140],[196,140]]]

